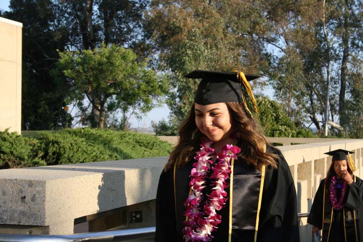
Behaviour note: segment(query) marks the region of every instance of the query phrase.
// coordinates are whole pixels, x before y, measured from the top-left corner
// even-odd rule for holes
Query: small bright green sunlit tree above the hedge
[[[114,44],[83,52],[60,52],[57,66],[71,87],[70,99],[87,97],[99,113],[95,126],[104,127],[107,112],[135,115],[151,110],[167,92],[166,79],[137,61],[135,53]]]

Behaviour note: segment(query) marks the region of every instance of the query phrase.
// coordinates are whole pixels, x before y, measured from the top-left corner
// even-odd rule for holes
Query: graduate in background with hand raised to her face
[[[323,231],[323,242],[360,242],[357,210],[363,205],[363,181],[353,175],[355,166],[349,153],[353,152],[339,149],[325,153],[333,155],[332,164],[307,218],[313,235]]]

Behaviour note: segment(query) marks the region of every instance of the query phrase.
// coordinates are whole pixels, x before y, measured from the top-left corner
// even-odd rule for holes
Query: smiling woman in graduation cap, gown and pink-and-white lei
[[[253,119],[248,80],[257,77],[185,77],[202,81],[160,175],[155,242],[299,242],[289,166]]]

